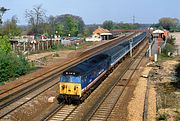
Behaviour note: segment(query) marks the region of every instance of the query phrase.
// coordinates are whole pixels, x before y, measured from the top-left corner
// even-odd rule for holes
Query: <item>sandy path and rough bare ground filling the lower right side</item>
[[[178,50],[174,60],[166,60],[160,68],[153,65],[152,69],[145,67],[150,72],[150,88],[148,97],[148,121],[167,120],[180,121],[180,86],[175,79],[175,67],[180,63],[180,33],[171,33],[176,40]],[[144,73],[142,72],[142,73]],[[144,98],[147,90],[147,79],[140,78],[134,91],[134,96],[128,105],[128,120],[143,120]],[[158,110],[156,112],[156,110]]]

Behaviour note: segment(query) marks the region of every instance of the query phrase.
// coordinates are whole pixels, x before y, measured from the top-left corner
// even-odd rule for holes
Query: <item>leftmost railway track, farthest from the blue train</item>
[[[111,47],[113,45],[116,45],[117,43],[120,43],[123,40],[127,41],[128,39],[130,39],[134,35],[136,35],[136,33],[133,33],[133,34],[131,34],[129,36],[122,36],[120,38],[116,38],[116,39],[113,39],[113,40],[111,40],[109,42],[106,42],[106,43],[102,44],[101,46],[96,46],[94,48],[85,50],[80,55],[81,56],[80,59],[78,59],[79,57],[71,59],[68,62],[63,63],[63,65],[59,65],[58,67],[50,69],[46,73],[43,73],[43,74],[41,74],[39,76],[36,76],[36,77],[32,77],[28,81],[20,83],[20,84],[16,85],[15,87],[12,87],[12,88],[10,88],[8,90],[1,91],[0,92],[0,102],[5,100],[6,98],[9,98],[10,96],[12,96],[11,94],[18,93],[17,90],[22,91],[22,90],[25,89],[24,87],[32,86],[33,84],[38,83],[39,81],[45,79],[46,77],[52,76],[57,70],[62,71],[63,69],[69,67],[70,65],[75,65],[75,64],[77,64],[78,61],[82,61],[83,59],[88,59],[91,56],[93,56],[94,54],[98,54],[102,50],[107,49],[108,47]],[[94,51],[94,50],[96,50],[96,51]]]

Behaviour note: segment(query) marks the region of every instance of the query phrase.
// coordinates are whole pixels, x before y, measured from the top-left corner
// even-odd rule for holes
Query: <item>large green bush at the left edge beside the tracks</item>
[[[0,84],[10,78],[21,76],[31,69],[23,56],[11,52],[11,44],[7,36],[0,36]]]

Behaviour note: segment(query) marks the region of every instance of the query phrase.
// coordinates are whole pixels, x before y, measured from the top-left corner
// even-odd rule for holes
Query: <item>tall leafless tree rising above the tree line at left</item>
[[[41,34],[43,32],[42,26],[46,21],[46,14],[41,5],[35,6],[32,10],[26,10],[25,17],[31,26],[30,33]]]

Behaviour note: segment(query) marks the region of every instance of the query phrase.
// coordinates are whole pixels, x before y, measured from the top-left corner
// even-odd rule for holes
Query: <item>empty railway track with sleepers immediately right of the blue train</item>
[[[125,73],[122,76],[119,76],[118,79],[111,78],[112,80],[116,80],[116,82],[108,92],[102,96],[103,98],[96,102],[96,105],[93,106],[83,120],[115,120],[117,118],[115,116],[117,113],[116,108],[121,105],[121,100],[124,97],[124,94],[128,93],[128,84],[132,81],[132,76],[143,59],[144,54],[145,51],[137,56],[135,61],[131,62]]]

